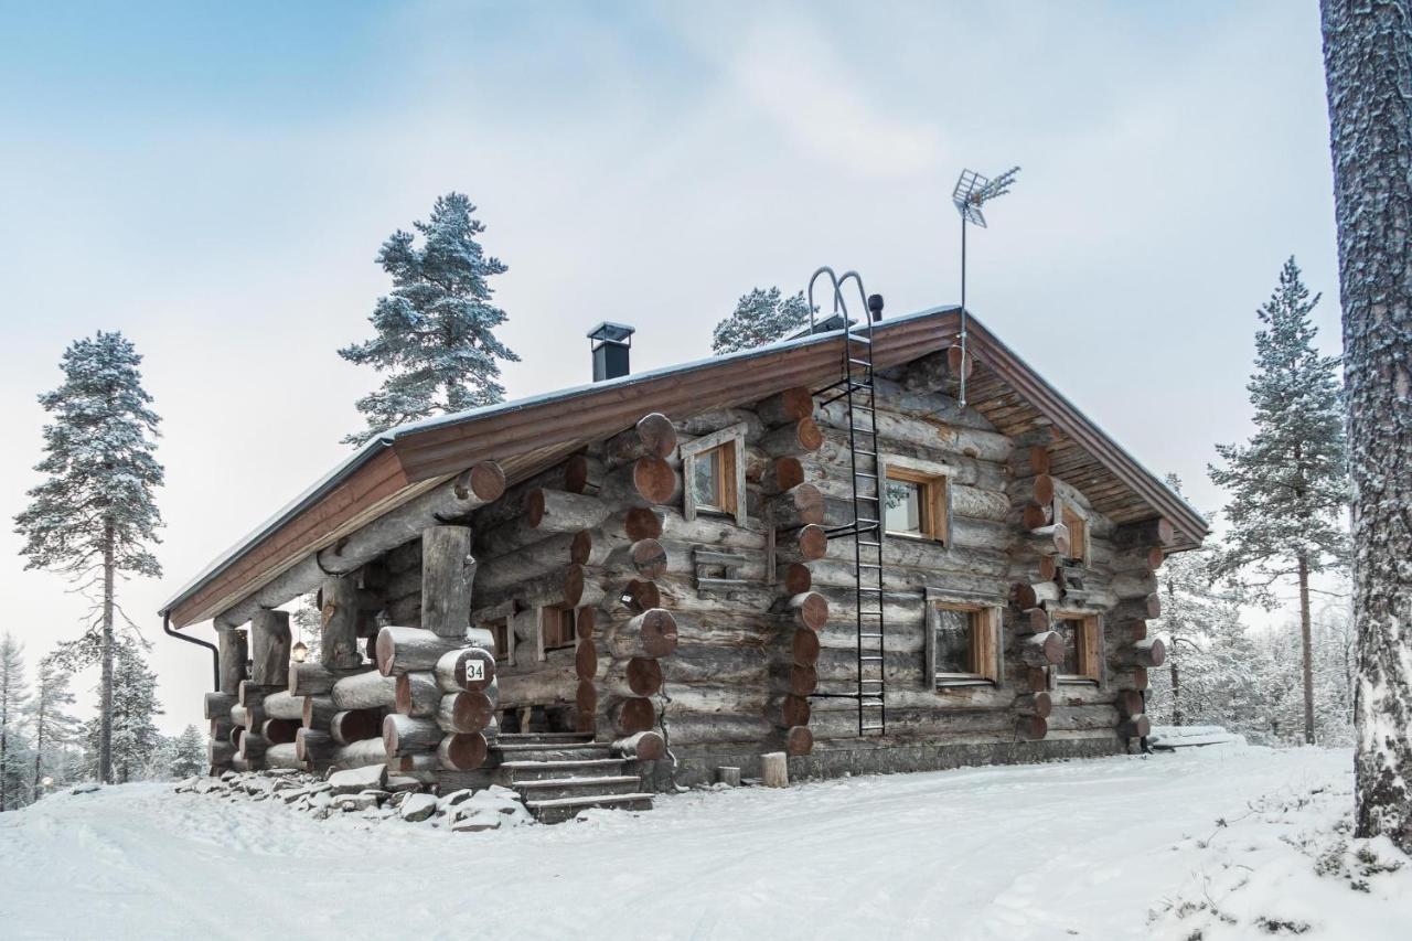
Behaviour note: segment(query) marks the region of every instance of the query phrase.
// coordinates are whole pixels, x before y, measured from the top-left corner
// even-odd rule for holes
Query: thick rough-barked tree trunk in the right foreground
[[[1354,832],[1412,852],[1412,3],[1322,7],[1354,495]]]

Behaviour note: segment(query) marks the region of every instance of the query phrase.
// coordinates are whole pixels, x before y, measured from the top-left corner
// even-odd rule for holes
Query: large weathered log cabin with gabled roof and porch
[[[216,630],[212,771],[388,763],[561,819],[1142,739],[1155,569],[1206,521],[973,316],[963,350],[957,308],[880,301],[641,374],[604,324],[593,383],[370,442],[161,612]]]

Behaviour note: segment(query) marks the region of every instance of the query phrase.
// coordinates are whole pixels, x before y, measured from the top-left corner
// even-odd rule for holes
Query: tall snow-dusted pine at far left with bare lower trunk
[[[112,781],[113,646],[116,581],[121,574],[158,576],[154,492],[162,466],[152,456],[160,418],[148,407],[138,366],[143,357],[121,333],[99,333],[68,348],[64,383],[40,396],[55,417],[44,427],[47,479],[16,517],[25,537],[27,568],[68,574],[80,588],[99,588],[97,617],[69,650],[68,668],[102,664],[97,773]]]

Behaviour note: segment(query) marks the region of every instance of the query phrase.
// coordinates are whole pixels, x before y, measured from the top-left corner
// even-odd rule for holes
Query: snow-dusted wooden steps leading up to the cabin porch
[[[500,783],[518,791],[539,822],[573,819],[590,807],[652,810],[637,759],[613,757],[592,733],[507,733],[491,752],[500,756]]]

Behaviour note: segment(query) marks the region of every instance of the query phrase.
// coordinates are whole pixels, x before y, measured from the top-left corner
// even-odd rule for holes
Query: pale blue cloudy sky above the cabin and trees
[[[1024,167],[973,244],[977,315],[1196,503],[1248,434],[1254,311],[1296,254],[1337,345],[1315,3],[0,3],[0,509],[24,504],[73,338],[123,329],[165,417],[164,582],[345,455],[373,257],[449,189],[510,271],[510,394],[695,359],[755,285],[858,268],[957,300],[949,192]],[[0,588],[31,658],[82,603]],[[8,560],[8,561],[6,561]],[[201,654],[160,640],[169,714]]]

